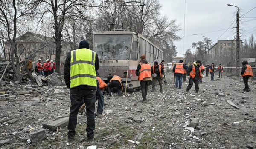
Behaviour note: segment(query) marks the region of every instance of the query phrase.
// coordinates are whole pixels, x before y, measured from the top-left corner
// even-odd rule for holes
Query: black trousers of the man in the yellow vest
[[[79,110],[79,105],[81,101],[84,100],[86,105],[87,112],[87,138],[94,138],[94,129],[95,129],[95,119],[94,119],[94,111],[95,111],[95,90],[86,90],[86,89],[70,89],[70,116],[68,120],[68,138],[73,139],[76,134],[76,124],[77,124],[77,114]]]

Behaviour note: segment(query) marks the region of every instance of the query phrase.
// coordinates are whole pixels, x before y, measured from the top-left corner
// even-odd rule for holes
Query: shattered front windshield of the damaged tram
[[[94,51],[100,60],[129,60],[131,39],[131,34],[96,34]]]

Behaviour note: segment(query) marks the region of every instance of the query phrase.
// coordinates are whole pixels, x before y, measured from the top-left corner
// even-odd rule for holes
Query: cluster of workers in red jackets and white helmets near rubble
[[[47,59],[44,63],[42,63],[42,59],[39,58],[38,63],[36,63],[36,72],[44,76],[51,75],[55,69],[56,65],[53,60]]]

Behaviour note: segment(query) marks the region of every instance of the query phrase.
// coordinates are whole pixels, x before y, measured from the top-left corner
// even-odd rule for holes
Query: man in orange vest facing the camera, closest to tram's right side
[[[155,89],[155,84],[156,81],[158,80],[159,82],[159,90],[160,92],[163,92],[163,87],[162,87],[162,79],[163,77],[163,67],[161,65],[158,64],[157,61],[154,62],[154,65],[151,67],[151,75],[153,78],[153,82],[152,82],[152,91],[154,92]]]

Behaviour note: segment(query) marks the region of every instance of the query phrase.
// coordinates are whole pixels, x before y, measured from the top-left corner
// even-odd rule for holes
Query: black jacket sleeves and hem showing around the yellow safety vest
[[[65,64],[64,64],[64,80],[67,88],[70,88],[70,61],[71,61],[71,53],[68,52],[65,60]],[[95,60],[95,71],[97,70],[99,70],[98,54],[96,54],[96,60]],[[81,86],[74,87],[72,89],[96,89],[96,87],[81,85]]]

